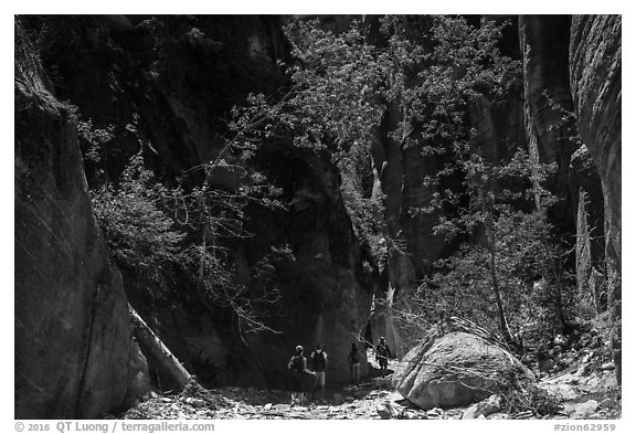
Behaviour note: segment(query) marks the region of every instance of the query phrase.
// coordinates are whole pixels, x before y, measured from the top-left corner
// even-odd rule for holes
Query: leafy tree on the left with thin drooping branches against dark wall
[[[137,155],[117,186],[106,183],[91,197],[109,251],[134,283],[129,290],[141,288],[153,299],[167,299],[180,276],[210,309],[229,308],[244,332],[271,330],[262,321],[264,306],[278,298],[277,290],[255,296],[237,284],[223,244],[250,235],[243,229],[243,209],[256,190],[232,193],[204,186],[186,193],[181,188],[168,189]],[[195,234],[199,242],[193,242]]]

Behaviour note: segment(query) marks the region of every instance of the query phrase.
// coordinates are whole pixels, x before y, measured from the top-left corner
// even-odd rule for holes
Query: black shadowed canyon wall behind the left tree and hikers
[[[140,150],[166,179],[209,162],[231,134],[232,107],[251,92],[275,99],[286,85],[278,62],[289,46],[274,15],[53,20],[66,33],[51,38],[43,57],[81,118],[94,128],[112,126],[105,166],[113,179]],[[85,165],[92,183],[99,168]],[[263,290],[253,279],[259,262],[286,252],[275,264],[280,303],[265,319],[277,334],[240,336],[231,311],[202,307],[189,287],[170,303],[136,296],[131,303],[206,385],[285,389],[294,348],[310,350],[318,341],[332,354],[330,381],[348,380],[347,352],[367,325],[375,272],[353,234],[338,170],[290,140],[265,146],[252,165],[293,203],[288,210],[251,205],[245,224],[254,235],[232,245],[236,277],[254,293]],[[235,187],[227,173],[210,181]],[[135,286],[126,274],[124,283],[127,292]]]

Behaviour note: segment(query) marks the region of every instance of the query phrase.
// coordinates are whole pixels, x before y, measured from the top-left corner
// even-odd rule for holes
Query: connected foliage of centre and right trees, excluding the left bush
[[[552,276],[560,261],[544,216],[554,198],[542,187],[554,167],[532,161],[516,144],[509,144],[508,156],[494,159],[475,140],[467,118],[473,102],[497,106],[519,89],[520,62],[498,49],[504,25],[489,20],[473,25],[449,15],[390,15],[381,18],[372,45],[360,22],[335,33],[318,20],[295,19],[286,29],[298,59],[287,70],[292,89],[276,104],[252,96],[237,113],[250,119],[240,127],[254,142],[294,137],[297,146],[331,156],[354,226],[379,247],[380,258],[378,235],[393,240],[382,222],[383,198],[364,173],[382,116],[398,107],[401,120],[390,137],[403,149],[417,147],[437,166],[424,181],[432,198],[410,214],[433,213],[435,234],[465,242],[457,254],[435,264],[412,308],[402,314],[426,322],[442,313],[469,313],[489,326],[497,318],[500,332],[510,337],[507,317],[515,318],[512,328],[521,328],[537,309],[561,308],[560,300],[533,294],[531,284],[537,276]],[[391,242],[390,248],[401,247]]]

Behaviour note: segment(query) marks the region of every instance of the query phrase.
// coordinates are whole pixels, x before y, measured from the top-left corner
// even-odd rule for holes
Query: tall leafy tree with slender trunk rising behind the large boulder
[[[403,148],[418,147],[437,165],[425,179],[435,191],[428,207],[411,212],[436,213],[435,233],[459,240],[463,247],[434,264],[412,308],[401,314],[411,324],[433,320],[431,311],[468,315],[488,325],[496,318],[500,335],[512,341],[510,316],[518,319],[522,309],[545,305],[544,294],[527,289],[529,282],[553,276],[561,263],[545,218],[554,198],[542,187],[554,167],[531,161],[517,144],[508,144],[507,156],[492,158],[475,139],[470,104],[487,99],[496,107],[521,83],[520,62],[501,55],[497,46],[506,24],[481,20],[474,25],[462,17],[432,15],[420,20],[417,33],[412,21],[382,20],[393,64],[385,95],[401,110],[391,136]],[[515,225],[524,227],[526,239],[511,232]],[[543,262],[531,261],[532,255]],[[561,304],[559,297],[550,303]]]

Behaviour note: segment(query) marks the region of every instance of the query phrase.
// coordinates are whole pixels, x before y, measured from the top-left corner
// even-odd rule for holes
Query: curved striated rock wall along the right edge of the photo
[[[581,139],[596,163],[605,199],[608,307],[621,324],[621,15],[575,15],[570,82]],[[621,334],[614,337],[619,362]],[[619,378],[621,370],[617,369]]]

